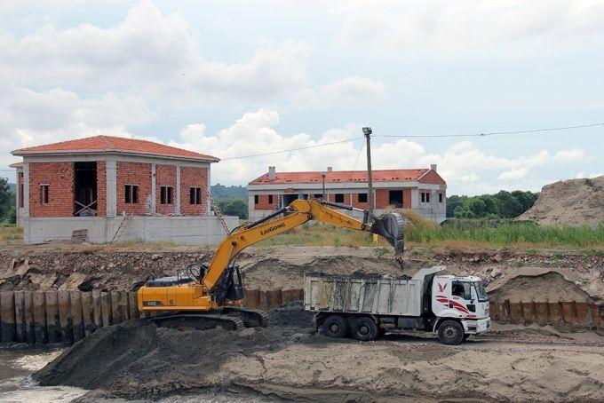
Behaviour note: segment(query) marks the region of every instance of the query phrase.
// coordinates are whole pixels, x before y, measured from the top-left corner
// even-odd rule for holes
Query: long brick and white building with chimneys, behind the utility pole
[[[358,209],[369,208],[365,170],[276,172],[269,167],[266,174],[248,184],[250,219],[265,217],[296,199],[322,197],[322,173],[327,200]],[[436,165],[430,169],[373,170],[372,177],[373,208],[377,214],[394,207],[417,209],[437,223],[446,218],[447,183],[436,172]]]

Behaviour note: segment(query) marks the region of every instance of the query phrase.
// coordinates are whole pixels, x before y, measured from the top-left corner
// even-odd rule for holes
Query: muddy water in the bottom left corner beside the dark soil
[[[86,390],[69,386],[38,386],[29,375],[44,367],[61,350],[0,350],[0,401],[68,402]]]

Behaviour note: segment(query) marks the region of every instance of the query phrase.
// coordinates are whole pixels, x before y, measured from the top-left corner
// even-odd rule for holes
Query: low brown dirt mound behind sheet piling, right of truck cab
[[[500,287],[489,291],[491,300],[503,302],[559,302],[590,301],[590,296],[568,281],[560,273],[549,272],[536,276],[518,276],[506,281]]]

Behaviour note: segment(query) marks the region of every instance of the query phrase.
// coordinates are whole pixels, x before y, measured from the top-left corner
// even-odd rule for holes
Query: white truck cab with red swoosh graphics
[[[445,321],[460,323],[465,337],[490,328],[489,296],[479,277],[434,276],[432,311],[438,318],[434,331],[439,333],[439,338],[457,337],[458,329],[455,326],[443,327]]]

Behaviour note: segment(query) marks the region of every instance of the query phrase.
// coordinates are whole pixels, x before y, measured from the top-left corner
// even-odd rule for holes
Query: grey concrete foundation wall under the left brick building
[[[76,230],[87,230],[87,241],[110,242],[123,217],[22,217],[23,241],[26,244],[70,240]],[[229,229],[239,225],[239,218],[225,216]],[[214,216],[132,216],[119,241],[171,241],[188,245],[217,244],[226,236],[218,217]]]

